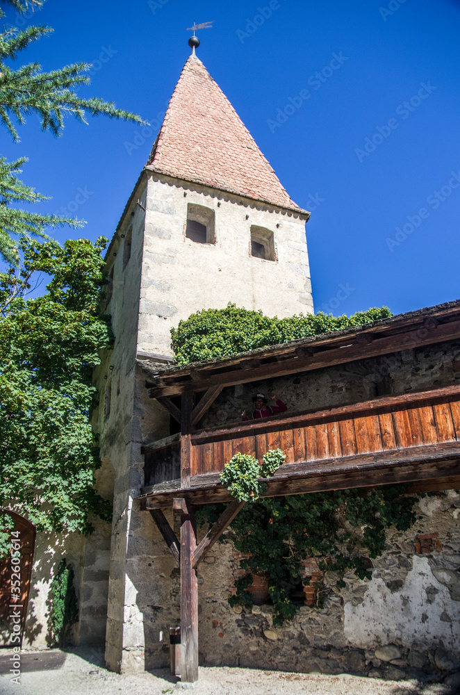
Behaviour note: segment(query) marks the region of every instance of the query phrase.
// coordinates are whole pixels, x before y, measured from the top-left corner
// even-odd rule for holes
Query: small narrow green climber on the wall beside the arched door
[[[61,559],[56,575],[51,582],[51,611],[49,627],[55,644],[63,646],[69,637],[72,625],[79,619],[79,610],[74,588],[74,570]]]

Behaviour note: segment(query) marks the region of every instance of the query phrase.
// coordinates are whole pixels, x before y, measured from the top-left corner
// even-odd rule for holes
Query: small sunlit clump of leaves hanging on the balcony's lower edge
[[[261,496],[265,485],[258,478],[273,475],[286,459],[281,449],[270,449],[263,455],[263,464],[250,454],[233,455],[220,474],[220,482],[228,485],[229,493],[238,502],[255,502]]]

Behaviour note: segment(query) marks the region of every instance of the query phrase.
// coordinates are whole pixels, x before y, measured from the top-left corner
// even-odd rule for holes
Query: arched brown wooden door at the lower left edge
[[[1,512],[13,518],[13,539],[19,541],[21,553],[19,572],[15,571],[17,566],[12,566],[11,555],[0,560],[0,647],[11,647],[20,646],[24,634],[36,533],[35,526],[23,516],[8,509]],[[12,592],[13,587],[19,587],[19,592]],[[19,597],[17,601],[12,600],[13,594]],[[18,625],[19,641],[13,637],[18,634],[17,628],[13,628]]]

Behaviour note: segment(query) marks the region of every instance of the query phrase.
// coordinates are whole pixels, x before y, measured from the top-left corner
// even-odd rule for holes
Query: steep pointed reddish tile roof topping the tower
[[[146,168],[302,211],[196,56],[183,67]]]

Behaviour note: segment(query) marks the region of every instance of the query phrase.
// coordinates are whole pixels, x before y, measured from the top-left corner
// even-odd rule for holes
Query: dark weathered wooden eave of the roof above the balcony
[[[160,366],[142,362],[151,398],[197,393],[343,364],[460,338],[460,300],[372,324],[258,348],[232,357]]]

